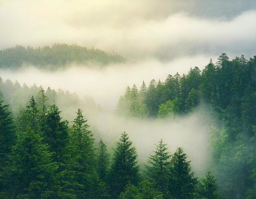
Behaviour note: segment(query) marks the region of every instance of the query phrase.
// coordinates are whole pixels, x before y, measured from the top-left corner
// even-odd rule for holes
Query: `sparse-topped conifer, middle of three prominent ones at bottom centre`
[[[168,178],[168,159],[171,157],[168,152],[166,152],[166,144],[164,144],[163,139],[159,141],[156,145],[154,155],[150,155],[149,163],[151,166],[147,166],[149,177],[155,183],[155,187],[160,192],[165,192],[167,190],[167,178]]]

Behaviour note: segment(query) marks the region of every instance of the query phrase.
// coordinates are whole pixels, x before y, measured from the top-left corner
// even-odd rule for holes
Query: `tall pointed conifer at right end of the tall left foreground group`
[[[66,170],[61,172],[62,195],[79,198],[94,198],[101,181],[96,173],[96,157],[92,132],[88,130],[87,120],[78,109],[74,124],[70,129],[70,144],[67,147],[69,159],[65,161]]]

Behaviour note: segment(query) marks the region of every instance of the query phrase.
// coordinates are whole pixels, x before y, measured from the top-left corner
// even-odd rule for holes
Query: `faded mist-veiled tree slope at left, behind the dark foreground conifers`
[[[89,96],[80,98],[76,93],[65,92],[61,88],[55,90],[48,87],[44,90],[42,86],[38,87],[36,84],[28,86],[24,83],[20,85],[18,81],[13,83],[9,79],[3,82],[0,77],[0,101],[8,102],[13,116],[19,115],[20,109],[27,106],[31,96],[35,97],[36,103],[45,102],[39,104],[40,107],[44,106],[42,107],[44,112],[46,107],[55,103],[60,110],[63,110],[62,115],[65,115],[68,120],[73,119],[70,117],[70,113],[76,112],[78,107],[82,107],[84,113],[89,112],[89,110],[101,110],[100,105],[96,104],[93,98]]]

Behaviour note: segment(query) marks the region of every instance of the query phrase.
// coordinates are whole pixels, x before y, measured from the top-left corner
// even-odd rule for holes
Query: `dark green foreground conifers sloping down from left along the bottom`
[[[182,148],[169,154],[161,139],[142,176],[126,132],[110,157],[102,139],[95,145],[82,110],[63,121],[45,94],[32,96],[15,121],[0,103],[1,198],[220,198],[213,175],[195,178]]]

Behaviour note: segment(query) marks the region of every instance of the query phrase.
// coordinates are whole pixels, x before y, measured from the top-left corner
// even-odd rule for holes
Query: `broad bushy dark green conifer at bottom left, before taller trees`
[[[4,197],[47,198],[56,192],[54,172],[57,164],[52,163],[51,154],[42,139],[33,130],[20,134],[10,155],[7,172],[9,184]]]

